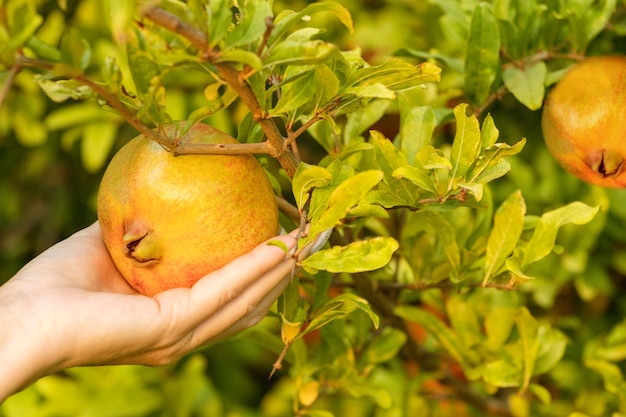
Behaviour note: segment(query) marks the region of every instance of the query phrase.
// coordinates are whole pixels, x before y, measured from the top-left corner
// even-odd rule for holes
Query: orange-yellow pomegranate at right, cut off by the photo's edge
[[[607,188],[626,187],[626,57],[598,56],[573,65],[542,113],[548,150],[570,173]]]

